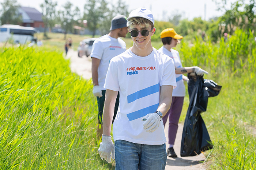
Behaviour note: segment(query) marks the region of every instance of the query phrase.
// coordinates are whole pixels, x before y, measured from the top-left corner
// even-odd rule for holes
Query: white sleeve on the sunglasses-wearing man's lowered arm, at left
[[[104,88],[119,91],[119,82],[118,82],[118,67],[117,63],[110,60],[108,72],[105,79]]]

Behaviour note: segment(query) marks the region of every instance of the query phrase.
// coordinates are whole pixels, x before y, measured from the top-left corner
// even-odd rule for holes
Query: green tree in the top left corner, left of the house
[[[22,24],[22,16],[19,15],[19,4],[16,0],[5,0],[1,6],[1,24]]]

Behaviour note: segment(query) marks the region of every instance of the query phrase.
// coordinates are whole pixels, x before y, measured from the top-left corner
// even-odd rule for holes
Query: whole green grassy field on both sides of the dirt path
[[[0,169],[114,169],[101,161],[96,138],[97,102],[91,80],[71,73],[63,34],[42,47],[0,48]],[[89,36],[67,35],[76,50]],[[131,39],[124,39],[127,48]],[[155,48],[161,42],[152,43]],[[225,43],[185,37],[176,48],[183,66],[199,66],[222,86],[202,113],[214,149],[208,169],[256,169],[256,44],[237,30]],[[189,104],[185,96],[181,122]]]

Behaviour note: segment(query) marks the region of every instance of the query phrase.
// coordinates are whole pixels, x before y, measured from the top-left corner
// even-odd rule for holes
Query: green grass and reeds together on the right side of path
[[[237,30],[219,44],[196,39],[190,47],[185,41],[180,51],[183,66],[199,66],[209,72],[204,78],[222,86],[220,94],[209,98],[202,114],[214,149],[208,169],[256,169],[256,44],[253,34]],[[184,108],[189,100],[185,99]],[[187,110],[182,111],[182,119]]]

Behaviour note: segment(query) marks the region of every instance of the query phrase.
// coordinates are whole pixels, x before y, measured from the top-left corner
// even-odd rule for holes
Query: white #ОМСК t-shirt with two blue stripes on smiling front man
[[[142,118],[157,111],[160,86],[176,86],[173,60],[155,48],[140,57],[130,49],[114,57],[109,64],[104,87],[119,91],[120,103],[113,124],[114,141],[125,140],[145,145],[166,142],[163,121],[157,130],[143,129]]]

